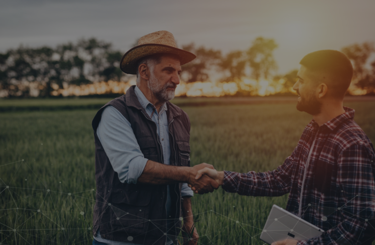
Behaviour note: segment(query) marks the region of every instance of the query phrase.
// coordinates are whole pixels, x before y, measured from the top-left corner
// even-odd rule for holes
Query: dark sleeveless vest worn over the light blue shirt
[[[164,245],[167,232],[167,185],[127,184],[119,180],[109,159],[101,146],[96,133],[101,113],[108,105],[115,107],[129,121],[138,145],[145,158],[163,163],[163,153],[156,123],[154,123],[141,106],[130,87],[126,94],[111,100],[104,105],[94,117],[92,126],[95,137],[95,178],[97,195],[94,207],[94,236],[98,229],[102,238],[133,242],[135,244]],[[190,166],[190,121],[187,114],[167,102],[168,130],[170,138],[170,165]],[[172,214],[175,227],[174,236],[181,227],[181,186],[182,183],[170,185]],[[174,205],[175,203],[175,205]],[[174,238],[176,239],[176,237]],[[174,240],[176,242],[176,240]]]

